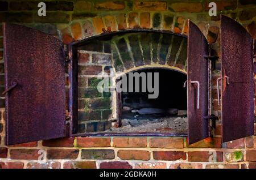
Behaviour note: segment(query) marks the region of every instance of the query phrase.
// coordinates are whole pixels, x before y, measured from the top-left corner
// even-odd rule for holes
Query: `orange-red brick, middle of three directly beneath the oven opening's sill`
[[[147,138],[113,138],[114,147],[147,147]]]

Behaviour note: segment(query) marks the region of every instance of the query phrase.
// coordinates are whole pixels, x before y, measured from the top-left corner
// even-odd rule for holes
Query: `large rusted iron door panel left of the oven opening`
[[[65,74],[61,41],[17,24],[3,24],[6,144],[65,136]]]

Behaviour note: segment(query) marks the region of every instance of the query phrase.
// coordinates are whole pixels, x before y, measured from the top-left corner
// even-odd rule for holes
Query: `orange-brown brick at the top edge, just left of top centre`
[[[123,10],[125,3],[123,2],[97,2],[94,6],[97,10]]]

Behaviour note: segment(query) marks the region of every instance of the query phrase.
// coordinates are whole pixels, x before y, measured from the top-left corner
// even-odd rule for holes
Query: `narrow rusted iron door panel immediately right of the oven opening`
[[[209,63],[204,58],[209,54],[209,45],[190,20],[188,29],[188,144],[192,144],[209,136],[208,119],[204,118],[209,114]]]

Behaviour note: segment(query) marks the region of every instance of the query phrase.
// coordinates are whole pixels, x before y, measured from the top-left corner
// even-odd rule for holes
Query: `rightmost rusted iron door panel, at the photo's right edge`
[[[221,16],[222,142],[253,135],[253,39]]]

